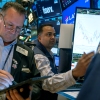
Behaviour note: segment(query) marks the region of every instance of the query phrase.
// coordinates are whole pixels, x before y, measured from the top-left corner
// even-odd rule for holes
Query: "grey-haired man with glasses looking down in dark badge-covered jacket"
[[[0,90],[12,85],[13,80],[21,82],[31,77],[40,76],[35,67],[33,51],[17,40],[23,27],[25,14],[25,9],[16,2],[7,2],[0,12]],[[28,72],[26,72],[27,70]],[[30,97],[37,100],[41,83],[38,82],[33,87]],[[22,88],[21,91],[24,89]],[[5,100],[5,98],[8,100],[30,100],[29,96],[24,99],[20,92],[16,89],[10,90],[1,95],[0,100]]]

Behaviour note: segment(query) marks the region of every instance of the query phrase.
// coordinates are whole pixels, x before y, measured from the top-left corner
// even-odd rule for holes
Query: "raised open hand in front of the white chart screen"
[[[72,75],[74,78],[82,77],[85,75],[88,65],[90,64],[93,56],[94,52],[83,54],[83,56],[79,59],[76,67],[72,70]]]

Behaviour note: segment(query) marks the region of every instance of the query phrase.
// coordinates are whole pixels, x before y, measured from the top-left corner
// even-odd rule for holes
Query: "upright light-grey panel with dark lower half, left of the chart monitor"
[[[61,24],[59,36],[59,73],[71,69],[73,24]]]

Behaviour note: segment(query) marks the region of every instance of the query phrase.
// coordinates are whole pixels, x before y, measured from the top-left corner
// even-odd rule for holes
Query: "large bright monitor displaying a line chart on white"
[[[77,8],[73,33],[72,65],[82,54],[96,51],[100,41],[100,10]],[[75,66],[74,66],[75,67]]]

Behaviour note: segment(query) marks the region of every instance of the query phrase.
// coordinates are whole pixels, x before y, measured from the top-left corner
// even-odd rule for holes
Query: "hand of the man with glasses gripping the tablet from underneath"
[[[20,91],[22,92],[23,89],[20,89]],[[31,100],[30,97],[27,99],[24,99],[16,89],[14,90],[10,90],[9,92],[6,92],[6,97],[8,100]]]

